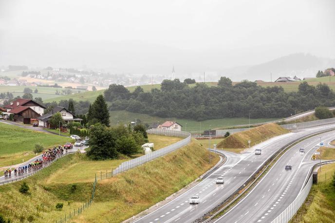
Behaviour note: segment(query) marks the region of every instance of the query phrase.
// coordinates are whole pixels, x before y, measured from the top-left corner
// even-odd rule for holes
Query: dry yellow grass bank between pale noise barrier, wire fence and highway
[[[187,186],[219,161],[196,140],[168,155],[99,181],[92,207],[75,223],[118,223]]]

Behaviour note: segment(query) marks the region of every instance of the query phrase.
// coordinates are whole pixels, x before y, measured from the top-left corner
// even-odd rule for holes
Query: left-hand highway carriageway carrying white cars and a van
[[[261,156],[255,155],[252,151],[244,154],[233,154],[223,151],[223,154],[227,156],[228,160],[222,167],[204,179],[197,186],[194,186],[168,204],[165,204],[135,222],[193,222],[229,197],[278,149],[288,143],[296,141],[300,137],[312,134],[316,131],[332,128],[335,128],[335,124],[304,130],[295,130],[294,132],[271,138],[254,147],[262,149]],[[224,178],[225,183],[223,185],[215,184],[215,180],[219,176],[223,176]],[[200,204],[189,204],[189,199],[193,195],[200,196]]]

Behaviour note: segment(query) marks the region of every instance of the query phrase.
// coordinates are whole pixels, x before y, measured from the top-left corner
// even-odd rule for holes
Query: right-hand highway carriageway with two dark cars
[[[269,223],[297,197],[307,182],[310,169],[319,160],[311,156],[319,148],[320,137],[324,145],[335,139],[335,130],[306,139],[289,149],[262,178],[259,184],[216,223]],[[304,148],[301,155],[299,149]],[[322,158],[322,157],[321,157]],[[291,165],[292,170],[285,170]]]

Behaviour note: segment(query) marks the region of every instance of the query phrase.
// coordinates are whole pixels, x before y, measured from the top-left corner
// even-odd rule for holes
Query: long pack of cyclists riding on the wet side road
[[[67,152],[67,149],[66,149]],[[21,167],[17,167],[15,169],[8,168],[4,170],[4,176],[5,177],[11,177],[12,174],[14,174],[14,176],[17,175],[23,175],[24,173],[28,173],[30,171],[35,171],[37,169],[40,169],[43,167],[43,164],[51,162],[53,160],[55,160],[56,158],[62,156],[64,153],[64,149],[59,145],[58,147],[55,147],[53,149],[47,149],[45,151],[43,151],[42,153],[42,158],[38,158],[37,160],[26,164],[24,166]]]

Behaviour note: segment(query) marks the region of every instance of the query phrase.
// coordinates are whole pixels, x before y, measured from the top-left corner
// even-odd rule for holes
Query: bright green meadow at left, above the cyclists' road
[[[52,148],[66,142],[73,142],[70,138],[40,131],[27,130],[17,126],[0,123],[0,167],[19,164],[33,158],[36,143],[44,148]]]

